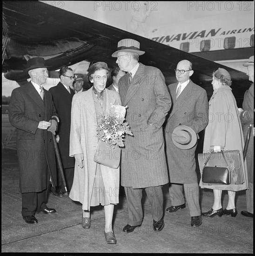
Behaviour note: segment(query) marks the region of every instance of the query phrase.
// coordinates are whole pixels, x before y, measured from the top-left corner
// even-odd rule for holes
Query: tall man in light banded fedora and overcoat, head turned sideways
[[[119,81],[119,94],[127,106],[126,120],[134,136],[125,138],[121,153],[121,185],[127,197],[127,225],[123,232],[132,232],[141,226],[142,189],[152,208],[153,229],[161,231],[163,220],[163,194],[161,186],[168,183],[162,125],[171,107],[171,98],[165,78],[156,67],[139,61],[144,54],[140,43],[123,39],[113,57],[122,71],[127,72]]]

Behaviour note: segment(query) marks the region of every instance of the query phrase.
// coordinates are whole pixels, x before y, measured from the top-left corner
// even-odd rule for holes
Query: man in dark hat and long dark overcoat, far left
[[[43,58],[27,61],[31,81],[13,90],[9,105],[10,123],[17,128],[17,150],[20,169],[20,192],[23,219],[37,223],[34,214],[55,213],[47,207],[50,174],[56,180],[54,142],[59,117],[51,94],[42,85],[47,82],[47,66]],[[50,169],[50,170],[49,170]]]

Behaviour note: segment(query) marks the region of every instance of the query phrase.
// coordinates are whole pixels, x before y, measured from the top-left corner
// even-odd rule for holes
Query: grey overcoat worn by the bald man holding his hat
[[[165,127],[166,155],[168,162],[169,180],[172,183],[195,183],[195,149],[184,150],[177,148],[172,141],[174,128],[186,125],[196,134],[206,128],[208,124],[208,99],[206,91],[191,80],[181,92],[177,100],[176,88],[178,82],[168,85],[172,99]]]

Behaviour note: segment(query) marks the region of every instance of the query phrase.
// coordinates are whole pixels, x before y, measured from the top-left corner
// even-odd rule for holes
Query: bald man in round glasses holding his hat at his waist
[[[191,226],[198,227],[202,218],[195,172],[196,135],[208,124],[208,99],[206,91],[190,80],[194,72],[190,61],[180,61],[174,71],[177,82],[168,85],[172,108],[164,129],[172,202],[167,212],[186,207],[184,189]]]

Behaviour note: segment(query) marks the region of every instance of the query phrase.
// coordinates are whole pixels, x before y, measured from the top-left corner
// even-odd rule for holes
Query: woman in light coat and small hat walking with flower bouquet
[[[94,162],[98,145],[96,128],[111,104],[121,105],[117,92],[106,89],[107,64],[96,62],[88,68],[89,90],[75,94],[71,111],[70,156],[75,157],[74,182],[70,198],[82,203],[82,227],[90,228],[90,207],[99,204],[105,210],[107,243],[116,243],[112,228],[114,204],[119,203],[120,169]]]

